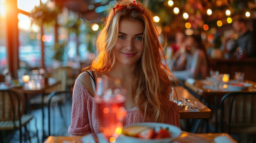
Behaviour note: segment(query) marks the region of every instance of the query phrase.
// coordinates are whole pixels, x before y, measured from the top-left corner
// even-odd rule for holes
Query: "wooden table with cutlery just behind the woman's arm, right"
[[[177,92],[178,99],[184,97],[185,99],[194,100],[200,102],[197,98],[195,98],[188,90],[186,90],[182,86],[175,87]],[[175,93],[175,92],[174,92]],[[174,94],[174,96],[176,96]],[[180,119],[209,119],[212,116],[211,109],[208,107],[204,109],[199,109],[199,112],[191,112],[187,110],[180,109]]]

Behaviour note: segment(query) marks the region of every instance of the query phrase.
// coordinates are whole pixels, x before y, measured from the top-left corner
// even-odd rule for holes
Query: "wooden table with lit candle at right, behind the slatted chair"
[[[196,94],[198,94],[199,96],[202,97],[210,97],[210,96],[214,96],[214,108],[215,108],[215,131],[218,131],[218,97],[224,96],[227,93],[230,92],[256,92],[256,83],[253,81],[249,81],[249,80],[245,80],[244,82],[253,84],[252,87],[243,89],[243,90],[236,90],[236,91],[226,91],[226,90],[211,90],[211,89],[207,89],[204,88],[204,86],[207,86],[208,81],[206,80],[195,80],[194,84],[189,84],[188,82],[185,81],[185,86],[187,88],[189,88],[190,90],[192,90],[193,92],[195,92]]]

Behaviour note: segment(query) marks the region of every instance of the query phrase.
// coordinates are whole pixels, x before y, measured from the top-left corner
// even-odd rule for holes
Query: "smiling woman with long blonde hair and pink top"
[[[97,57],[74,86],[71,135],[102,132],[94,81],[106,76],[118,78],[126,90],[123,125],[160,122],[180,127],[179,108],[169,100],[172,76],[162,64],[163,46],[149,9],[139,2],[118,1],[104,19],[96,45]]]

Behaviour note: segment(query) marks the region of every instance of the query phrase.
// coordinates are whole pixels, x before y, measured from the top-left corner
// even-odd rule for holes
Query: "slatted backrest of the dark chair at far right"
[[[221,132],[256,127],[256,92],[231,92],[221,99]],[[243,130],[244,131],[244,130]],[[249,130],[248,130],[249,131]]]

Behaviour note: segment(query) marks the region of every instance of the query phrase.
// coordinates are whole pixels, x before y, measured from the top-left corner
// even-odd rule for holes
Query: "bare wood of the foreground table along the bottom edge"
[[[231,139],[234,143],[236,143],[236,141],[227,133],[192,134],[188,132],[182,132],[180,137],[177,137],[176,139],[174,139],[174,141],[181,142],[186,140],[187,141],[186,143],[188,142],[195,143],[196,141],[193,142],[193,140],[191,140],[192,137],[195,137],[195,138],[199,137],[206,140],[206,143],[212,143],[216,136],[223,136],[223,135],[229,137],[229,139]],[[81,142],[82,137],[83,136],[49,136],[45,141],[45,143],[64,143],[64,142],[82,143]]]

